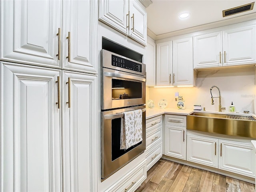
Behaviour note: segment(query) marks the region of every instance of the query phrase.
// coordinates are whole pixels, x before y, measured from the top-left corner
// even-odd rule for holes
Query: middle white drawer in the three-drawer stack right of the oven
[[[162,126],[160,126],[146,133],[146,150],[149,150],[155,144],[162,141],[162,132]]]

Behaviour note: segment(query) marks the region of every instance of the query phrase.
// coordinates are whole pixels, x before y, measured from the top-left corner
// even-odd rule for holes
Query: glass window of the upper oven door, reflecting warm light
[[[142,98],[142,82],[112,79],[112,100]]]

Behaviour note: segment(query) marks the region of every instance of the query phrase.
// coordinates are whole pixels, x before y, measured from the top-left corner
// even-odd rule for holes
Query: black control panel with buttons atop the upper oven
[[[139,63],[132,62],[130,60],[112,55],[112,66],[121,67],[132,71],[142,71],[142,65]]]

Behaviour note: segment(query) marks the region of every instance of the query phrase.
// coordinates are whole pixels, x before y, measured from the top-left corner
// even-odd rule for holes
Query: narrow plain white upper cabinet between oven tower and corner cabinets
[[[146,46],[146,86],[156,86],[156,43],[148,37]]]

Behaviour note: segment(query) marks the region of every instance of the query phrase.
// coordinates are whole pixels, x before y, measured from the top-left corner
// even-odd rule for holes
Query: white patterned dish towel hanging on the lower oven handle
[[[128,149],[142,141],[142,110],[124,112],[121,118],[121,146]]]

